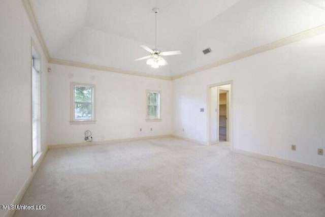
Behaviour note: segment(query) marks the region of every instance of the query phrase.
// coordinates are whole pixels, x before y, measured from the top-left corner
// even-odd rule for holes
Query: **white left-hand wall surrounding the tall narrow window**
[[[0,1],[0,203],[31,172],[31,37],[42,59],[42,151],[47,149],[47,60],[19,0]],[[0,210],[0,216],[5,210]]]

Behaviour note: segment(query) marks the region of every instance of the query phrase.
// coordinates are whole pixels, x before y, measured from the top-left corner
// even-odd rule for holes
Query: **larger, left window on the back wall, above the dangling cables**
[[[72,83],[71,121],[94,121],[94,91],[94,85]]]

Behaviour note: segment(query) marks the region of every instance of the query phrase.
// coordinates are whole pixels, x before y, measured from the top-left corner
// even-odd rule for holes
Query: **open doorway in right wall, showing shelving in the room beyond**
[[[232,148],[232,82],[208,86],[208,145],[230,144]]]

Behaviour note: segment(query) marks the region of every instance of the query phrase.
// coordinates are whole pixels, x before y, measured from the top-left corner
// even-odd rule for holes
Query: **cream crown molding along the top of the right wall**
[[[282,47],[284,45],[288,45],[288,44],[291,44],[291,43],[294,43],[294,42],[297,42],[297,41],[301,41],[303,39],[307,39],[307,38],[310,38],[310,37],[313,37],[313,36],[316,36],[316,35],[319,35],[319,34],[322,34],[322,33],[325,33],[325,24],[314,27],[314,28],[311,28],[311,29],[308,29],[308,30],[306,30],[304,32],[301,32],[301,33],[298,33],[298,34],[295,34],[295,35],[280,39],[278,41],[274,41],[274,42],[271,42],[269,44],[262,45],[260,47],[256,47],[256,48],[244,51],[242,53],[238,53],[238,54],[233,55],[231,57],[218,60],[218,61],[216,61],[216,62],[214,62],[212,64],[208,64],[208,65],[196,68],[196,69],[186,71],[186,72],[184,72],[182,74],[172,76],[172,80],[176,80],[176,79],[183,78],[183,77],[186,77],[186,76],[189,76],[189,75],[193,75],[193,74],[196,74],[196,73],[208,70],[208,69],[212,69],[212,68],[224,65],[224,64],[231,63],[233,61],[237,61],[239,59],[246,58],[248,56],[252,56],[252,55],[255,55],[255,54],[258,54],[258,53],[263,53],[263,52],[268,51],[268,50],[272,50],[272,49],[275,49],[275,48],[278,48],[278,47]]]

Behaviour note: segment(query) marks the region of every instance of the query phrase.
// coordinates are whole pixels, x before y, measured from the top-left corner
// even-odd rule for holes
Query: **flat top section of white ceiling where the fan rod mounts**
[[[106,33],[154,43],[154,13],[158,7],[158,43],[181,41],[240,0],[92,0],[85,26]]]

